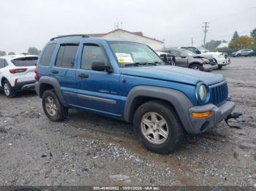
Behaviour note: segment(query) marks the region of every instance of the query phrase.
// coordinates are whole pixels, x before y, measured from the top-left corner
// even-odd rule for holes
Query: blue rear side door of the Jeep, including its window
[[[56,78],[61,85],[61,93],[67,104],[76,104],[76,60],[78,42],[65,42],[58,45],[56,59],[50,71],[50,76]]]

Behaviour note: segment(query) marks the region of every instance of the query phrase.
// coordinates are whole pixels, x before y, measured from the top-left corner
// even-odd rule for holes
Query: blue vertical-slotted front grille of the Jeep
[[[210,103],[214,105],[222,104],[227,99],[228,89],[227,82],[222,82],[217,85],[210,86],[211,100]]]

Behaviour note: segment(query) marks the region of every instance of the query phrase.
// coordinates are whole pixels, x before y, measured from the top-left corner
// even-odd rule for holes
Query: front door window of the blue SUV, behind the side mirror
[[[102,50],[102,47],[99,47],[97,44],[85,44],[83,46],[82,60],[81,60],[81,69],[91,70],[91,65],[93,62],[108,63],[108,58],[105,55],[105,52]]]

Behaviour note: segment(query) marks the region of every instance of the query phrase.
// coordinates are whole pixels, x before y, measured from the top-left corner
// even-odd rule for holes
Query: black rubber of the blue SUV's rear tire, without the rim
[[[54,116],[51,116],[50,114],[48,114],[47,109],[45,108],[45,99],[48,97],[52,97],[53,101],[56,104],[57,107],[57,111],[56,114]],[[51,120],[51,121],[60,121],[60,120],[64,120],[64,111],[62,109],[62,105],[59,101],[59,98],[57,97],[56,93],[54,90],[46,90],[43,94],[42,94],[42,108],[46,114],[46,116]]]

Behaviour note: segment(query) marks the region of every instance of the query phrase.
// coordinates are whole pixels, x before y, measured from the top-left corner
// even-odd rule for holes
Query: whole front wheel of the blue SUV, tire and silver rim
[[[152,152],[173,152],[184,137],[176,112],[162,101],[141,105],[135,112],[133,125],[143,146]]]

